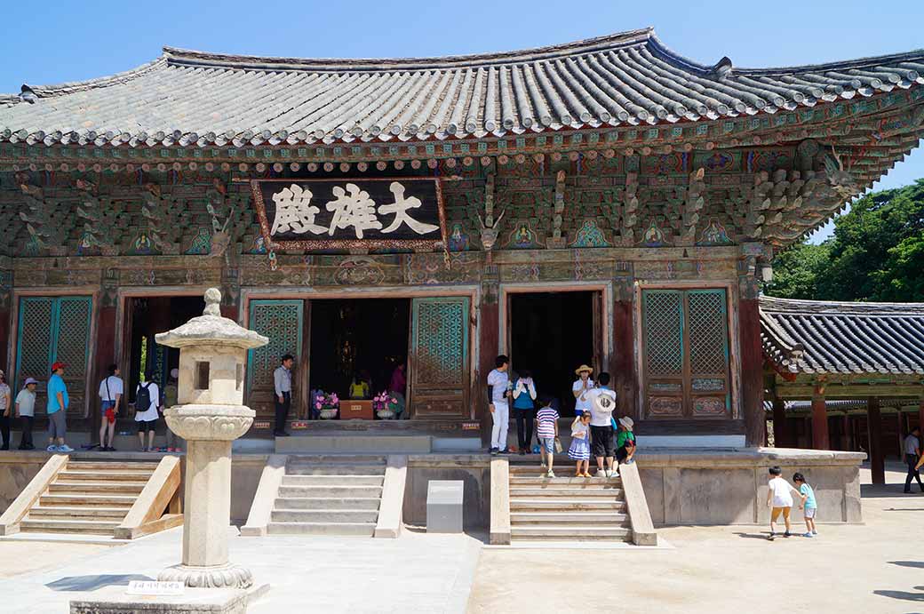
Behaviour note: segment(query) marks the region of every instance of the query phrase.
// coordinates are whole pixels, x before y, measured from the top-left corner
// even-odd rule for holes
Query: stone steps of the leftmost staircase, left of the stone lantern
[[[67,461],[19,523],[19,531],[112,537],[157,464]]]

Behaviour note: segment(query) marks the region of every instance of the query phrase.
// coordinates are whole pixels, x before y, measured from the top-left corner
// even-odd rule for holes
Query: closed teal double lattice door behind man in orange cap
[[[45,387],[57,361],[67,362],[67,415],[85,414],[92,304],[89,296],[19,299],[16,372],[9,384],[15,390],[26,377],[39,380],[37,414],[44,412]]]

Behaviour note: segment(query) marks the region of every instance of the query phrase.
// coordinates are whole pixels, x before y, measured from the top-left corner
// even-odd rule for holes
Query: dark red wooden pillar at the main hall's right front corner
[[[741,299],[738,303],[738,338],[741,340],[741,407],[746,443],[760,446],[767,438],[767,421],[763,410],[763,350],[757,299]]]

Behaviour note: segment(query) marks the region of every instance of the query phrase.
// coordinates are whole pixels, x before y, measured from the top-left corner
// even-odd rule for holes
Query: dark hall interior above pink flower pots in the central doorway
[[[385,390],[407,360],[409,299],[311,301],[310,388],[346,398],[354,374]]]

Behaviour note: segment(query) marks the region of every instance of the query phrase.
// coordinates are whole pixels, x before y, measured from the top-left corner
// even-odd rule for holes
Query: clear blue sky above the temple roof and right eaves
[[[171,45],[301,57],[453,55],[505,51],[653,26],[703,63],[792,66],[924,47],[924,0],[803,3],[627,2],[6,2],[0,92],[133,68]],[[15,27],[8,27],[15,24]],[[879,184],[924,177],[916,150]],[[816,233],[826,237],[830,226]]]

